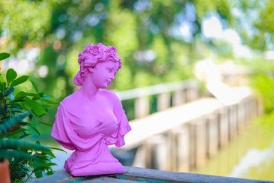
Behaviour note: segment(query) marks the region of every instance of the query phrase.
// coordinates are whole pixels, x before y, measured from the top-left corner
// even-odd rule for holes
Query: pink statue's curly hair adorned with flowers
[[[98,45],[87,45],[84,51],[79,53],[78,62],[80,69],[74,77],[74,83],[78,86],[82,86],[84,80],[90,70],[88,67],[94,68],[99,62],[119,62],[118,70],[121,68],[122,62],[121,58],[117,55],[117,50],[115,47],[106,47],[102,45],[101,42]]]

